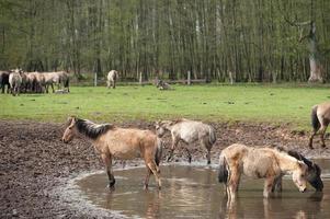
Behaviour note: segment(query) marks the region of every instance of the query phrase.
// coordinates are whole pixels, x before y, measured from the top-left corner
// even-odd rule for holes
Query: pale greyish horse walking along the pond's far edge
[[[173,151],[180,141],[183,141],[186,145],[200,142],[202,147],[206,148],[207,164],[210,164],[210,149],[216,142],[216,132],[212,126],[185,118],[156,123],[156,132],[158,137],[161,138],[167,130],[170,131],[172,136],[171,152],[168,161],[171,160]],[[189,155],[189,162],[191,163],[192,155],[190,150],[186,147],[185,150]]]

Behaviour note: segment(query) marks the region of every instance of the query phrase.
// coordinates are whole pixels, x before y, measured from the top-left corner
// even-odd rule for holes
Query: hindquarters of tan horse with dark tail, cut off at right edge
[[[312,132],[309,138],[309,148],[312,148],[312,139],[317,135],[317,132],[320,132],[321,136],[321,146],[322,148],[326,148],[325,142],[325,134],[327,130],[327,127],[330,123],[330,103],[321,103],[318,105],[315,105],[311,107],[311,126],[312,126]]]

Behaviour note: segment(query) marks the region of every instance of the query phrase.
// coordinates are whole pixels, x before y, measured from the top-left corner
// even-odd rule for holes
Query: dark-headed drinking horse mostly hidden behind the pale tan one
[[[278,150],[284,149],[277,147]],[[306,180],[307,182],[316,189],[316,192],[322,192],[323,191],[323,182],[321,178],[321,169],[318,164],[315,162],[308,160],[305,158],[301,153],[298,153],[294,150],[285,151],[288,155],[294,157],[295,159],[303,161],[307,165],[307,174]],[[274,186],[272,188],[272,192],[282,192],[282,177],[278,177],[277,181],[274,183]]]

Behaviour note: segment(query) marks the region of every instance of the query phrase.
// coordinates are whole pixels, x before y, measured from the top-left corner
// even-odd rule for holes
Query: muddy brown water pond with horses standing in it
[[[322,169],[325,191],[311,187],[301,194],[284,177],[282,195],[262,197],[263,180],[242,178],[237,200],[228,205],[217,182],[216,165],[162,165],[162,189],[150,177],[144,191],[145,168],[115,171],[116,188],[106,188],[105,173],[76,182],[81,198],[92,206],[128,218],[330,218],[330,160],[316,161]]]

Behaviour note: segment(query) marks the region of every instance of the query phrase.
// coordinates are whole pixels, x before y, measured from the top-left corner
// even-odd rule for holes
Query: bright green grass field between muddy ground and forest
[[[127,85],[73,87],[69,94],[0,95],[1,119],[64,122],[68,115],[100,122],[190,117],[309,127],[310,107],[330,99],[327,87],[174,85],[173,91]]]

